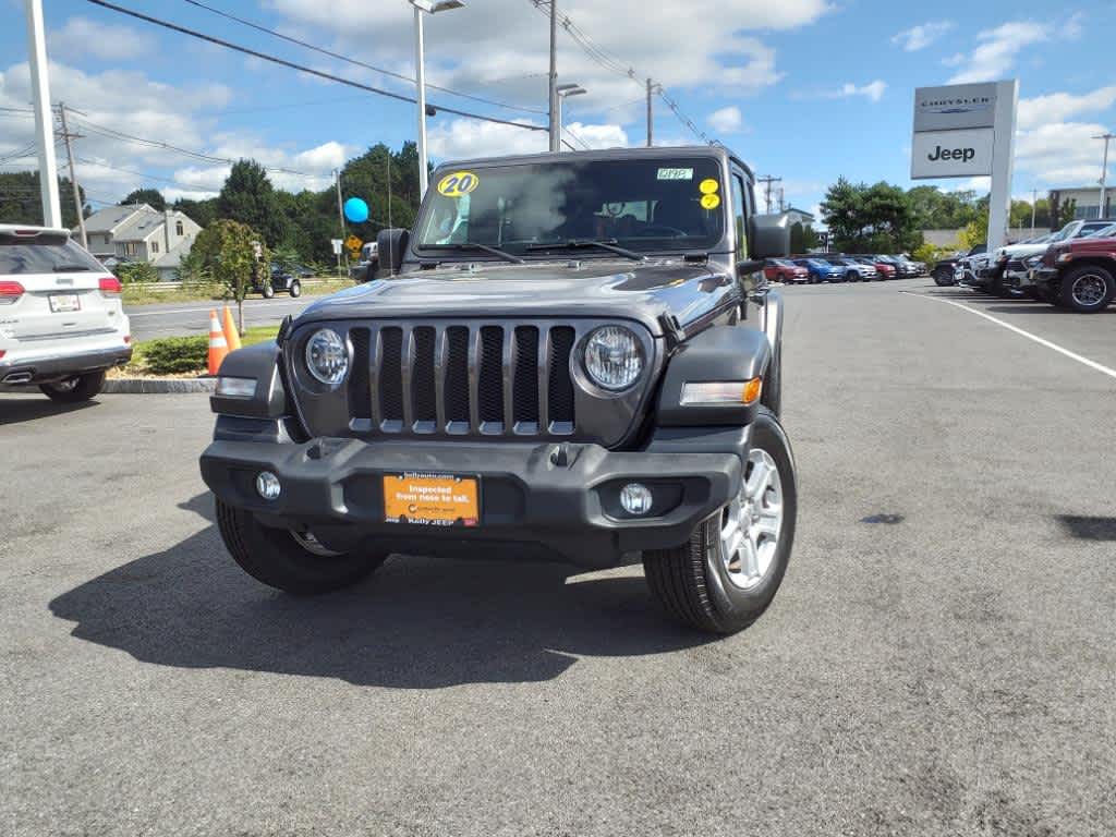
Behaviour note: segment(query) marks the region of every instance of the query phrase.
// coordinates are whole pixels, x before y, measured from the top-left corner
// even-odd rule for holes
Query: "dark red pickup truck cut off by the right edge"
[[[1116,237],[1051,244],[1029,278],[1039,295],[1057,306],[1083,314],[1103,311],[1116,296]]]

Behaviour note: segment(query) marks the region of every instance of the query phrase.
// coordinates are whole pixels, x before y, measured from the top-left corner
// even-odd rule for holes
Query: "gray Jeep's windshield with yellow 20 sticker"
[[[708,252],[724,232],[723,200],[714,158],[446,169],[432,180],[414,247],[437,259],[483,248],[535,258]]]

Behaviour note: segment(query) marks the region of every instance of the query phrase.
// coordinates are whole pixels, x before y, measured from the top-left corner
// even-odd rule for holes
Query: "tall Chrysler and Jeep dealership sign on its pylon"
[[[1019,81],[991,81],[914,92],[911,180],[992,176],[988,247],[1008,230]]]

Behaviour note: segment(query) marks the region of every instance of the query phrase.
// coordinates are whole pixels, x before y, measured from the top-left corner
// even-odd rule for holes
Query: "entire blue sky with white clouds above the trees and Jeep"
[[[413,74],[405,0],[205,0],[210,6],[403,76]],[[543,124],[547,20],[532,0],[468,0],[429,19],[429,81],[500,102],[432,90],[433,102]],[[251,48],[387,89],[404,81],[305,50],[192,6],[119,0]],[[7,8],[4,8],[7,7]],[[220,187],[223,158],[254,156],[287,189],[321,187],[369,144],[414,137],[414,107],[325,83],[122,17],[84,0],[45,0],[52,98],[85,112],[79,177],[97,200],[136,185],[172,196]],[[1020,79],[1013,193],[1095,183],[1116,128],[1116,4],[932,4],[827,0],[559,0],[574,32],[609,57],[594,60],[561,32],[559,75],[589,93],[569,100],[569,142],[642,144],[642,79],[651,75],[686,117],[760,173],[783,177],[787,199],[814,208],[839,175],[908,181],[913,88],[951,80]],[[22,22],[23,0],[0,0]],[[25,27],[0,30],[0,170],[33,140]],[[610,64],[632,67],[641,84]],[[655,100],[656,141],[693,133]],[[124,142],[104,131],[170,143],[214,160]],[[545,134],[440,114],[432,157],[530,151]],[[1114,155],[1116,156],[1116,155]],[[1116,166],[1114,166],[1116,167]],[[122,171],[126,170],[126,171]],[[138,174],[133,174],[136,172]],[[945,189],[980,181],[945,181]]]

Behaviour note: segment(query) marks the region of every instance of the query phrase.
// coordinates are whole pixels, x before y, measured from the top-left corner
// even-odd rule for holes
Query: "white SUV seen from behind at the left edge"
[[[121,280],[69,230],[0,224],[0,384],[92,398],[132,357]]]

